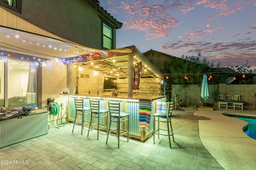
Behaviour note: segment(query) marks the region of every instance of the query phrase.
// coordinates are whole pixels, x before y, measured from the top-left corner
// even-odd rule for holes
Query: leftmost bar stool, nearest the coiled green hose
[[[76,116],[77,115],[82,115],[82,121],[76,122],[76,116],[75,116],[72,133],[74,131],[75,125],[81,125],[82,126],[81,135],[82,135],[83,134],[84,125],[89,124],[89,123],[84,124],[84,115],[90,113],[90,112],[85,113],[86,111],[90,110],[90,107],[85,107],[84,106],[84,99],[76,99],[76,98],[75,98],[75,106],[76,106]]]

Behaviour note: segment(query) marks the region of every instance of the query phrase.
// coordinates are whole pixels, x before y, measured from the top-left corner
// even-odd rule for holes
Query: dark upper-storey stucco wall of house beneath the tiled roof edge
[[[95,49],[102,49],[102,21],[105,21],[113,28],[113,49],[116,48],[116,25],[106,18],[109,15],[102,15],[89,4],[93,0],[88,1],[22,0],[21,14],[10,12],[54,35]]]

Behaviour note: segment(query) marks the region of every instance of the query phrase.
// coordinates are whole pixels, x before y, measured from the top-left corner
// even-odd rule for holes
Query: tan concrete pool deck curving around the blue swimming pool
[[[194,115],[209,117],[199,120],[199,136],[204,147],[227,170],[252,170],[256,167],[256,140],[248,137],[243,127],[246,121],[222,115],[222,113],[248,114],[238,111],[198,110]]]

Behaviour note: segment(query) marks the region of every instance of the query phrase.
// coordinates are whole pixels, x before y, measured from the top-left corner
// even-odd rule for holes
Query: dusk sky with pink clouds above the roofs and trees
[[[116,20],[116,48],[135,45],[256,68],[256,0],[100,0]]]

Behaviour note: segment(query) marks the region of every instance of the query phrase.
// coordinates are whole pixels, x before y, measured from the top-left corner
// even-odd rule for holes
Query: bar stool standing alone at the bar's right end
[[[172,130],[172,122],[171,122],[173,102],[166,102],[166,104],[167,104],[167,107],[166,107],[165,113],[164,112],[156,112],[153,114],[153,116],[154,116],[153,143],[155,143],[155,134],[158,134],[158,139],[159,139],[159,135],[168,136],[169,146],[170,146],[170,148],[172,148],[170,136],[172,136],[172,140],[174,141],[174,133]],[[157,119],[156,119],[156,117],[157,117]],[[161,118],[161,120],[159,118]],[[166,119],[166,121],[164,121],[162,119]],[[156,121],[158,122],[158,129],[156,129]],[[160,129],[159,122],[165,122],[167,124],[167,129]],[[171,129],[169,129],[169,123],[170,123]],[[160,133],[160,130],[167,131],[168,134]]]

